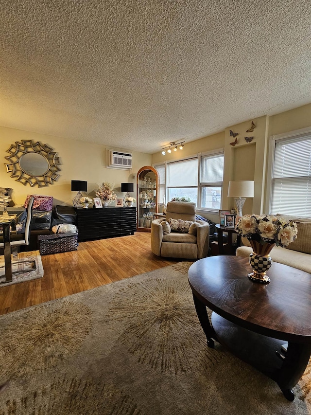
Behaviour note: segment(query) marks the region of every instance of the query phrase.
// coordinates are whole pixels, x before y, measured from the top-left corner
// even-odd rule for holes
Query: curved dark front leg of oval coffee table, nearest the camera
[[[310,344],[288,343],[282,367],[277,371],[274,380],[286,399],[293,401],[292,388],[302,377],[311,356]]]

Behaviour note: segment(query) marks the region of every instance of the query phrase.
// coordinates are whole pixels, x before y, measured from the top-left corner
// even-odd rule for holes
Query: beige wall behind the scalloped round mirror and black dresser
[[[39,141],[41,144],[48,144],[54,152],[57,152],[62,164],[59,172],[60,177],[54,184],[41,188],[31,187],[28,184],[24,186],[7,173],[4,157],[8,156],[9,153],[6,151],[11,144],[20,140]],[[12,198],[16,204],[23,204],[28,194],[35,194],[53,196],[54,205],[72,205],[72,198],[74,198],[76,192],[71,192],[71,180],[86,180],[87,194],[90,197],[95,197],[98,184],[103,181],[115,183],[116,193],[119,197],[124,197],[124,194],[121,193],[121,182],[132,182],[135,190],[133,196],[136,197],[136,173],[140,167],[151,165],[152,156],[139,152],[132,153],[132,172],[111,169],[106,168],[106,146],[104,145],[0,127],[0,156],[2,161],[0,163],[0,187],[13,188]],[[134,178],[133,175],[135,175]]]

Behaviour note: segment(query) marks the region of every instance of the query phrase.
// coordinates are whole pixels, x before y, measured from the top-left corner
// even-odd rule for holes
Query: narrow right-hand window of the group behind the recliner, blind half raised
[[[221,209],[224,176],[224,153],[201,158],[201,209]]]

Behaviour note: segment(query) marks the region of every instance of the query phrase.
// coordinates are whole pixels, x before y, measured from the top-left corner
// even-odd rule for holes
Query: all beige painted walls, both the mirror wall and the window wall
[[[246,132],[254,121],[256,128],[253,132]],[[223,209],[231,208],[235,202],[227,198],[228,182],[230,180],[254,180],[255,197],[246,199],[243,213],[263,213],[265,187],[266,187],[266,163],[269,136],[294,131],[311,126],[311,104],[294,108],[274,116],[262,116],[253,118],[246,122],[229,126],[224,131],[213,134],[202,139],[185,143],[184,149],[166,153],[165,156],[159,151],[153,155],[133,152],[133,171],[106,168],[106,147],[104,145],[84,143],[66,138],[52,137],[36,134],[12,128],[0,127],[0,186],[12,187],[13,200],[22,204],[27,194],[51,195],[54,204],[71,204],[75,193],[70,190],[71,180],[86,180],[88,182],[88,194],[94,196],[98,184],[103,181],[114,182],[118,196],[121,194],[121,182],[133,182],[136,184],[136,173],[144,165],[153,165],[163,161],[178,160],[209,150],[225,149],[225,171]],[[238,132],[238,143],[230,145],[234,141],[230,136],[230,129]],[[251,143],[246,143],[244,137],[254,136]],[[62,162],[60,178],[48,187],[31,188],[15,181],[6,172],[4,156],[8,155],[6,150],[11,144],[20,140],[35,140],[42,144],[50,145],[57,152]],[[132,177],[135,175],[135,178]],[[134,186],[136,188],[136,186]],[[136,191],[135,191],[136,197]],[[204,215],[218,222],[217,215]]]

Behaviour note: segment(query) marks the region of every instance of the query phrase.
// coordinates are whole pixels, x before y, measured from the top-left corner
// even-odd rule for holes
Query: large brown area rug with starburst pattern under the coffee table
[[[0,316],[0,415],[311,414],[310,365],[289,402],[221,345],[207,347],[190,265]]]

